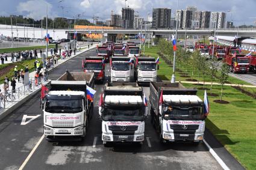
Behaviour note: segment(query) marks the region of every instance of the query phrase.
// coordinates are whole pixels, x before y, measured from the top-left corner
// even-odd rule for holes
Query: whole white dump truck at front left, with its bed
[[[48,141],[86,136],[93,115],[87,87],[94,87],[93,73],[67,71],[50,82],[49,93],[43,99],[43,133]]]

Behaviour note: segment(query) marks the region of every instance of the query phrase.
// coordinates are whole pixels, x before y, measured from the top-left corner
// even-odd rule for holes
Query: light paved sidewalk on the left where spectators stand
[[[90,47],[90,49],[96,47],[96,44],[94,44],[93,46]],[[83,53],[83,52],[86,52],[87,50],[89,50],[88,48],[86,49],[83,49],[81,51],[76,51],[76,55],[80,55],[80,53]],[[63,64],[64,62],[66,61],[69,61],[69,59],[72,59],[73,57],[75,57],[76,55],[72,55],[66,59],[59,59],[58,60],[58,64],[55,64],[53,68],[49,68],[48,71],[51,71],[53,70],[54,68],[58,67],[59,65]],[[32,71],[29,75],[30,75],[30,79],[34,79],[34,76],[35,76],[35,72],[36,71]],[[10,77],[9,77],[10,79]],[[49,80],[50,81],[50,80]],[[43,84],[46,84],[48,82],[42,82]],[[1,87],[1,92],[3,92],[3,83],[0,85]],[[17,103],[19,103],[21,100],[25,99],[26,97],[30,96],[31,94],[33,93],[37,93],[38,91],[40,91],[40,88],[42,86],[39,85],[39,86],[34,86],[34,83],[32,83],[32,89],[29,89],[28,87],[25,87],[22,83],[18,82],[17,79],[16,79],[16,93],[13,93],[14,95],[14,99],[13,101],[11,102],[7,102],[5,101],[5,109],[3,108],[3,100],[0,100],[0,106],[2,107],[0,109],[0,120],[1,120],[1,115],[6,112],[8,109],[12,108],[14,105],[16,105]],[[11,82],[9,82],[9,91],[8,92],[11,92]]]

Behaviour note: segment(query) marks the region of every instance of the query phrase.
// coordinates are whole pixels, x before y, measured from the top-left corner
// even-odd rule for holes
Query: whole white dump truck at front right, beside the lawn
[[[151,82],[151,123],[157,129],[160,142],[198,144],[204,139],[204,102],[196,92],[181,83]]]

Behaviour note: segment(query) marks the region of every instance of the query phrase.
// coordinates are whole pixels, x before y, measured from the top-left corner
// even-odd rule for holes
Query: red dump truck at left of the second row
[[[102,56],[86,56],[83,59],[84,72],[94,73],[94,79],[104,83],[105,77],[105,58]]]

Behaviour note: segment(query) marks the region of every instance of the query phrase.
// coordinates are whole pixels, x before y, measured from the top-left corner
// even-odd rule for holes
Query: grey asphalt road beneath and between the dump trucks
[[[57,79],[66,70],[82,71],[81,61],[86,55],[96,55],[96,50],[82,53],[49,73]],[[105,68],[109,76],[108,65]],[[106,79],[107,80],[107,79]],[[133,144],[118,144],[105,148],[101,141],[101,120],[98,115],[99,94],[103,85],[96,85],[95,108],[83,142],[40,141],[43,135],[43,112],[40,110],[40,94],[28,100],[10,116],[0,121],[0,169],[222,169],[204,144],[161,145],[149,118],[145,125],[145,143],[142,147]],[[143,87],[149,96],[149,87]],[[149,102],[148,102],[149,103]],[[36,116],[35,120],[20,125],[23,115]],[[209,139],[213,136],[208,133]],[[214,138],[211,140],[214,141]],[[31,150],[38,144],[30,157]],[[93,147],[95,145],[95,147]],[[217,146],[221,148],[221,146]],[[241,169],[229,158],[232,169]],[[236,163],[234,163],[236,162]]]

